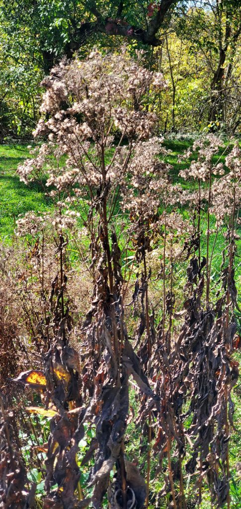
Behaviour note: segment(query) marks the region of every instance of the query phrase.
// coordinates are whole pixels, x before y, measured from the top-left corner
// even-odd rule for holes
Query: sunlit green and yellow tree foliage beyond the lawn
[[[157,112],[159,130],[238,131],[241,30],[238,0],[218,4],[212,0],[208,6],[201,0],[198,8],[192,2],[173,2],[158,32],[157,47],[129,37],[110,36],[108,23],[119,20],[123,27],[135,26],[143,31],[157,14],[158,4],[124,2],[118,15],[120,4],[117,0],[50,3],[20,0],[11,4],[1,0],[0,141],[6,136],[31,136],[39,118],[41,79],[59,59],[64,55],[72,58],[75,52],[84,58],[93,46],[103,53],[119,51],[123,42],[132,57],[136,50],[144,50],[144,65],[161,70],[169,81],[165,94],[146,104]],[[96,11],[100,16],[98,22]],[[81,27],[88,23],[97,24],[84,38]],[[98,23],[104,23],[102,31],[98,31]],[[167,30],[168,25],[171,30]],[[221,110],[213,93],[213,89],[220,87]]]

